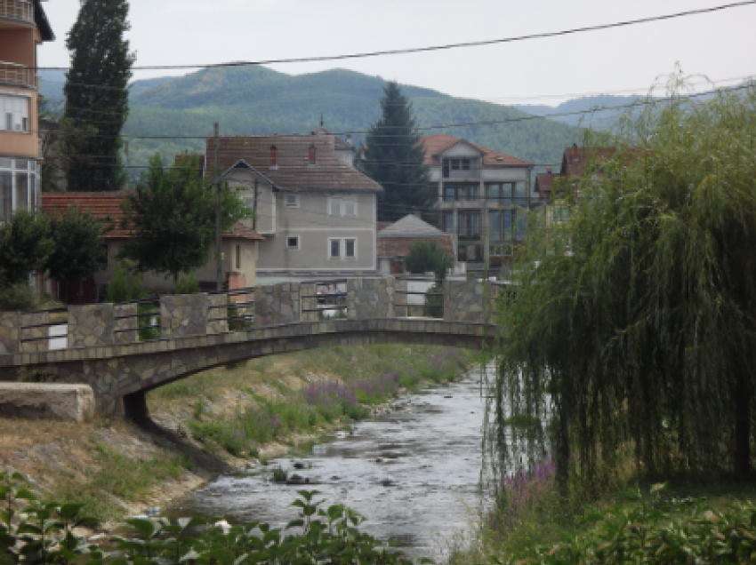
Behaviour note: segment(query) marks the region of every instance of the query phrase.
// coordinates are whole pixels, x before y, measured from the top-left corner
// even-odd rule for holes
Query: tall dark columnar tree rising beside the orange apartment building
[[[64,120],[90,133],[68,167],[68,190],[118,190],[125,183],[119,149],[129,114],[127,89],[135,59],[124,32],[127,0],[84,0],[68,32]]]

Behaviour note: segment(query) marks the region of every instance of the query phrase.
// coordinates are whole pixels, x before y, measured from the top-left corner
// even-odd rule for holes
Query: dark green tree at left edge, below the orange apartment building
[[[55,251],[50,223],[44,214],[17,211],[0,227],[0,265],[7,283],[21,283],[44,268]]]

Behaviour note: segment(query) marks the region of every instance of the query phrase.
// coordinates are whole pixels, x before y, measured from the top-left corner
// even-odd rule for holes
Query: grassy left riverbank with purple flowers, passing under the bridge
[[[107,418],[0,419],[0,465],[26,474],[41,497],[84,503],[107,527],[218,473],[347,429],[400,394],[462,375],[475,358],[438,347],[337,347],[205,371],[149,394],[166,434]]]

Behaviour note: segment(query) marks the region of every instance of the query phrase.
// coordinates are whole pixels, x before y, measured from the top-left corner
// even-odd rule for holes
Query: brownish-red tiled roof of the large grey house
[[[214,167],[213,137],[207,138],[206,167]],[[335,136],[254,135],[220,138],[218,161],[221,171],[244,161],[277,186],[293,192],[380,193],[382,187],[335,155]],[[277,168],[270,168],[270,148],[276,147]],[[316,166],[309,166],[310,147],[315,147]]]

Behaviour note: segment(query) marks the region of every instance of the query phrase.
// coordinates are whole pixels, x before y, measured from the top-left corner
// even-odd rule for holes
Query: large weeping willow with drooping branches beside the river
[[[532,215],[497,303],[494,477],[544,456],[563,487],[752,473],[756,88],[670,88],[586,134],[582,174]]]

